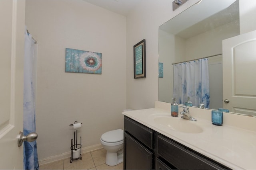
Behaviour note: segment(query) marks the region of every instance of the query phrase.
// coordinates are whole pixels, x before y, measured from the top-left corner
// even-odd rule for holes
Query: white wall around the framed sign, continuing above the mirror
[[[198,0],[190,0],[172,11],[171,0],[143,0],[127,16],[126,100],[127,107],[154,107],[158,100],[158,27]],[[133,46],[146,39],[146,78],[133,78]]]

